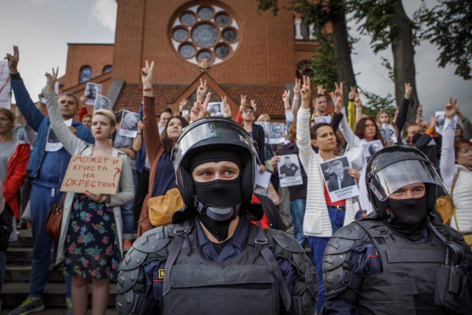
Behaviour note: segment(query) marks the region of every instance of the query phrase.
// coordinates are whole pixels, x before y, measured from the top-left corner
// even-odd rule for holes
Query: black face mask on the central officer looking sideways
[[[226,240],[230,223],[236,219],[242,202],[241,178],[194,182],[194,185],[199,220],[219,242]]]

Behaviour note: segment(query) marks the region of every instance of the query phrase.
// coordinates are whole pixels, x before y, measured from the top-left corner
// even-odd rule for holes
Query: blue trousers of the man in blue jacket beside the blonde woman
[[[59,189],[47,188],[34,183],[31,187],[29,202],[34,246],[31,258],[29,294],[32,297],[41,297],[47,282],[52,241],[46,236],[46,217],[51,206],[59,202],[61,197],[62,192]],[[67,297],[70,297],[70,283],[70,276],[65,276]]]

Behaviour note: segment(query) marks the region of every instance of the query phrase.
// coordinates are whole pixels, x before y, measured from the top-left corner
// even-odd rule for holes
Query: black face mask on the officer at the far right
[[[424,227],[427,212],[426,194],[421,198],[387,199],[388,224],[395,230],[409,235]]]

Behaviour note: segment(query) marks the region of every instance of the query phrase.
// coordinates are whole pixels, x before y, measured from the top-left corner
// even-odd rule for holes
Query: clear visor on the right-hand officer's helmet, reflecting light
[[[444,189],[444,184],[431,163],[422,160],[404,160],[378,171],[369,182],[380,201],[384,201],[398,189],[407,185],[425,183]]]

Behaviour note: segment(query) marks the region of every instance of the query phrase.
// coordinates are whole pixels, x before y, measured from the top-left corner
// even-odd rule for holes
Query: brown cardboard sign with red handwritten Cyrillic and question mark
[[[60,191],[114,195],[117,193],[123,158],[77,156],[70,158]]]

